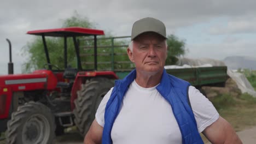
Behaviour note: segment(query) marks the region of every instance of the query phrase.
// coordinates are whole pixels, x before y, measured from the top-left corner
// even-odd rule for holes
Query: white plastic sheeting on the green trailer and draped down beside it
[[[182,65],[182,66],[181,66]],[[176,65],[166,65],[165,69],[180,69],[180,68],[196,68],[196,67],[213,67],[213,66],[225,66],[225,63],[210,58],[191,59],[191,58],[179,58]],[[237,84],[237,87],[242,93],[249,93],[256,97],[256,92],[251,83],[247,80],[246,76],[241,73],[236,73],[228,68],[228,75]]]

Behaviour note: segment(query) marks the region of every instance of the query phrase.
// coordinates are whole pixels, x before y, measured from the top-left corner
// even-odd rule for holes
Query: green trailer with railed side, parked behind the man
[[[122,40],[120,40],[122,39]],[[132,69],[135,68],[130,62],[126,49],[130,37],[111,37],[97,39],[97,70],[110,70],[123,79]],[[94,39],[80,39],[80,51],[83,65],[89,69],[94,69],[95,59]],[[83,54],[86,53],[86,54]],[[91,58],[90,58],[91,57]],[[166,69],[168,74],[177,76],[180,79],[190,82],[191,85],[201,88],[201,86],[224,87],[228,79],[227,67],[200,67],[200,68],[179,68]]]

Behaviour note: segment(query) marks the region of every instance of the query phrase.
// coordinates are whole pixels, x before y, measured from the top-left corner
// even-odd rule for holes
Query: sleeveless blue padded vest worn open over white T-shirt
[[[120,112],[120,106],[124,95],[130,84],[136,78],[136,70],[132,70],[123,80],[115,81],[115,86],[110,95],[105,109],[104,128],[102,134],[102,144],[112,144],[111,130]],[[182,143],[203,143],[197,130],[196,120],[191,107],[188,104],[188,87],[187,81],[178,79],[166,73],[162,73],[160,84],[156,87],[158,92],[164,97],[172,107],[172,111],[179,129],[182,134]]]

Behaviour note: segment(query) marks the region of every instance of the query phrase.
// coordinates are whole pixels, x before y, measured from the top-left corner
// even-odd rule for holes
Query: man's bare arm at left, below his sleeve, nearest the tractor
[[[101,143],[103,128],[97,123],[96,119],[92,122],[88,133],[84,137],[84,144],[97,144]]]

